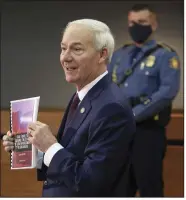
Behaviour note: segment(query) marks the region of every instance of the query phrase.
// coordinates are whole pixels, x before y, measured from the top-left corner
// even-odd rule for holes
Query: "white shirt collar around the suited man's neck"
[[[103,74],[99,75],[96,79],[94,79],[92,82],[90,82],[89,84],[85,85],[80,91],[77,91],[78,93],[78,97],[80,99],[80,101],[83,100],[83,98],[85,97],[85,95],[88,93],[88,91],[94,86],[96,85],[96,83],[101,80],[106,74],[108,74],[108,71],[105,71]]]

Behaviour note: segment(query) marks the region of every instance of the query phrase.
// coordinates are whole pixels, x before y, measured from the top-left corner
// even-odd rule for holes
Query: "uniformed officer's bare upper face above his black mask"
[[[142,11],[131,11],[128,15],[128,26],[131,27],[134,25],[134,23],[138,23],[141,25],[151,25],[152,30],[156,30],[156,20],[155,17],[151,12],[148,10],[142,10]]]

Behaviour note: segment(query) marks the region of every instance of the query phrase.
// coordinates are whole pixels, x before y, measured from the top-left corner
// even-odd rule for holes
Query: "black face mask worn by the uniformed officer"
[[[152,34],[152,27],[151,25],[141,25],[135,23],[133,26],[129,27],[129,33],[135,42],[142,44]]]

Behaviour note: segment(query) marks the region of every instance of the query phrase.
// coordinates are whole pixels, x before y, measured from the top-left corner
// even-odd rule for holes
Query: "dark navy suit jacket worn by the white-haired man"
[[[125,196],[122,183],[135,121],[124,99],[106,75],[87,93],[73,120],[65,125],[68,106],[57,136],[64,148],[54,155],[49,167],[43,164],[38,170],[38,179],[46,180],[43,196]]]

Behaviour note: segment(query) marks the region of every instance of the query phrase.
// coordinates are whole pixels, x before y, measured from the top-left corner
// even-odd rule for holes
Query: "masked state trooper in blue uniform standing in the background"
[[[154,39],[155,12],[144,4],[128,13],[133,40],[116,50],[108,66],[112,81],[123,88],[137,123],[129,170],[128,196],[162,197],[166,126],[180,84],[180,61],[170,46]]]

